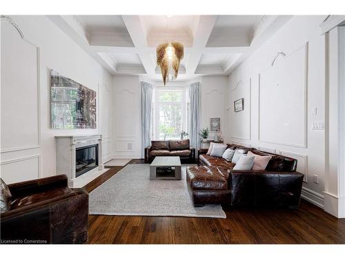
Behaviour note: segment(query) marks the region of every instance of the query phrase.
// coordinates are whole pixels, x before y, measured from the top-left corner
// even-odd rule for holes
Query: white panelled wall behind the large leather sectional
[[[324,207],[323,16],[295,16],[229,76],[228,142],[282,153],[298,160],[304,173],[302,196]],[[277,57],[284,52],[286,57]],[[233,101],[244,97],[244,111],[235,113]],[[313,111],[317,111],[314,114]],[[313,175],[318,175],[319,183]]]

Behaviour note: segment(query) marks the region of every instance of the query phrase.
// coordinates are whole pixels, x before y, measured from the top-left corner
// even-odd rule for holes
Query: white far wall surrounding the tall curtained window
[[[193,81],[172,81],[167,86],[146,78],[116,75],[112,78],[114,99],[114,157],[141,157],[141,97],[140,81],[159,87],[187,86],[193,81],[201,83],[201,128],[210,128],[210,118],[221,118],[221,131],[226,131],[226,91],[228,77],[207,76]],[[214,137],[215,133],[210,133]]]

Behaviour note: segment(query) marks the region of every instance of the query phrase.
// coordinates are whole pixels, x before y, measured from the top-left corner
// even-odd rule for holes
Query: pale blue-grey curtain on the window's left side
[[[141,81],[141,157],[144,157],[144,148],[150,146],[151,111],[153,85]]]

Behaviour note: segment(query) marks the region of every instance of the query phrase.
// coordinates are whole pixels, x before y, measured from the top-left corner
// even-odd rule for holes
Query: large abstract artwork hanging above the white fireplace
[[[52,128],[97,128],[96,100],[95,90],[50,71]]]

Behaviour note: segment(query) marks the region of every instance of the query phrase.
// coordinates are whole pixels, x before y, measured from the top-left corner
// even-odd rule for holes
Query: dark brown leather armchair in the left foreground
[[[1,213],[1,242],[74,244],[88,240],[88,193],[70,189],[66,175],[9,184],[10,210]]]

